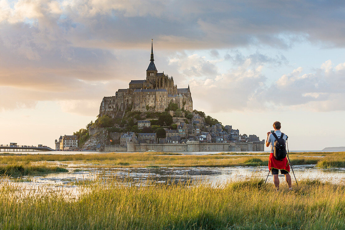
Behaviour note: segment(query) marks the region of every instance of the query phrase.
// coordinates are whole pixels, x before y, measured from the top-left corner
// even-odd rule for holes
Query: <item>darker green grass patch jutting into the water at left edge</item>
[[[7,164],[0,165],[0,175],[13,177],[68,172],[67,169],[52,165]]]

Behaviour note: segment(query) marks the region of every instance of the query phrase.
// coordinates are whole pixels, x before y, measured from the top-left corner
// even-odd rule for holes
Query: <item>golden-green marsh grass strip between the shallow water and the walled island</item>
[[[313,153],[313,152],[311,152]],[[23,162],[85,162],[88,164],[113,167],[147,167],[160,165],[166,167],[228,167],[228,166],[266,166],[268,156],[246,156],[239,153],[233,156],[210,155],[170,155],[172,153],[100,153],[100,154],[1,154],[0,163],[18,164]],[[252,154],[252,153],[250,153]],[[254,153],[256,154],[256,153]],[[261,154],[261,153],[260,153]],[[264,153],[267,154],[267,153]],[[345,167],[345,152],[330,152],[327,157],[313,157],[310,153],[290,153],[292,165],[316,164],[318,167]],[[323,154],[323,153],[321,153]],[[314,155],[318,155],[315,153]]]

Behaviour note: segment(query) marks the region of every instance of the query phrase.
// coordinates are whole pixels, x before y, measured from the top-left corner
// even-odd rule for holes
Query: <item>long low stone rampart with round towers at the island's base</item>
[[[259,152],[264,151],[263,141],[246,143],[199,143],[188,141],[186,144],[135,144],[128,142],[127,147],[106,145],[105,152]]]

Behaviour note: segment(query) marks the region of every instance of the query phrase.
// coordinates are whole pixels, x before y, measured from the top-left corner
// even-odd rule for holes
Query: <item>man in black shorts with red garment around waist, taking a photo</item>
[[[276,134],[276,136],[280,138],[280,136],[282,135],[282,132],[280,132],[280,128],[281,128],[280,122],[276,121],[275,123],[273,123],[273,128],[274,128],[274,133]],[[285,134],[283,136],[283,139],[286,141]],[[279,190],[279,178],[278,178],[279,170],[281,174],[285,175],[285,180],[287,184],[289,185],[289,190],[292,190],[291,176],[289,174],[290,166],[286,157],[282,159],[281,161],[279,161],[273,155],[273,146],[274,146],[275,140],[276,138],[274,137],[274,135],[271,134],[271,132],[268,132],[267,139],[266,139],[266,147],[271,145],[271,153],[269,155],[269,160],[268,160],[268,169],[269,171],[271,171],[273,175],[273,178],[274,178],[273,181],[274,181],[274,185],[276,186],[277,191]]]

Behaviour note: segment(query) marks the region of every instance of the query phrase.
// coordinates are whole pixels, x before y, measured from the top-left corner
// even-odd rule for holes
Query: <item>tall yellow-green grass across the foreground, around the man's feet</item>
[[[294,191],[264,179],[211,186],[127,186],[116,178],[67,192],[22,192],[0,183],[0,229],[344,229],[345,186],[300,181]]]

